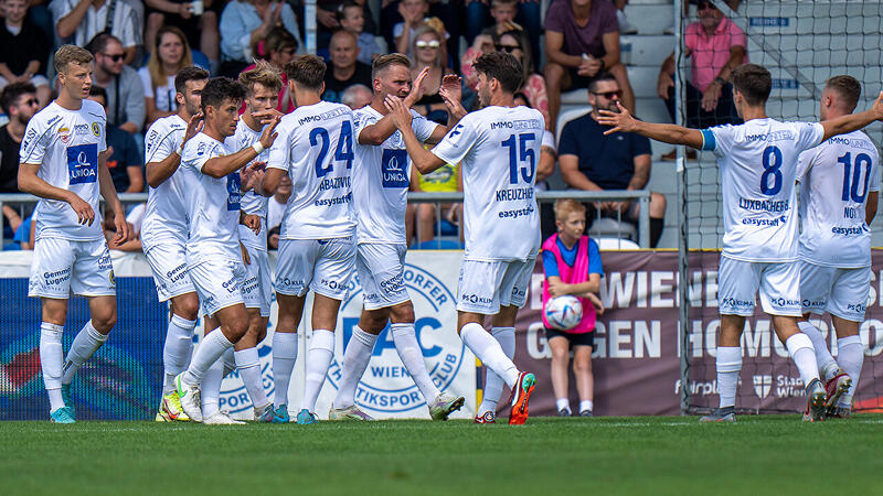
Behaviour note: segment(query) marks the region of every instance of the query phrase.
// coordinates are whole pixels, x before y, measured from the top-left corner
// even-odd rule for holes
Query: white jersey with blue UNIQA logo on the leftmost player
[[[107,150],[104,108],[83,100],[78,110],[67,110],[55,101],[28,122],[21,141],[19,162],[39,164],[38,176],[49,184],[75,193],[92,205],[91,226],[77,223],[67,202],[40,198],[36,204],[36,239],[62,238],[75,241],[103,239],[102,209],[98,207],[98,154]]]

